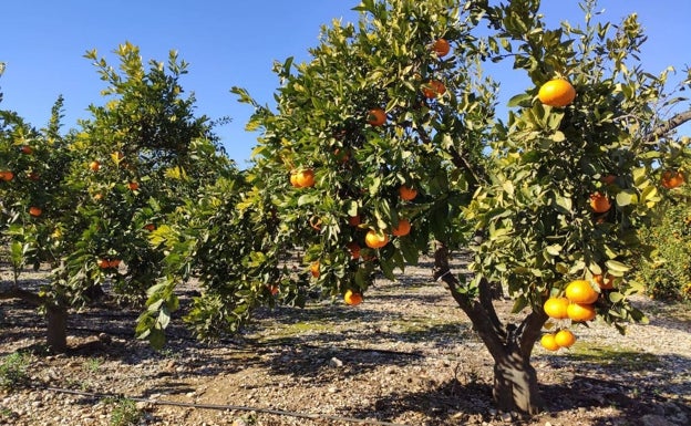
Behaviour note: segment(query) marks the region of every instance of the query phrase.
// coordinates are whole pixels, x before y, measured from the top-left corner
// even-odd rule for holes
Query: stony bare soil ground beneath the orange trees
[[[641,298],[648,325],[621,336],[595,322],[569,351],[536,349],[548,409],[524,417],[493,408],[493,363],[430,273],[378,281],[355,308],[261,310],[213,345],[176,325],[159,352],[132,337],[137,312],[90,308],[70,319],[70,352],[51,355],[42,320],[0,301],[0,362],[20,351],[27,367],[0,391],[0,425],[691,424],[688,305]],[[508,318],[510,302],[497,305]]]

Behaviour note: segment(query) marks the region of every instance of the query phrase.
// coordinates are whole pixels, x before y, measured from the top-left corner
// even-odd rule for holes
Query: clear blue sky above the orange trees
[[[189,62],[182,85],[197,97],[197,113],[229,116],[233,122],[217,128],[228,155],[246,165],[256,135],[244,131],[250,110],[229,93],[234,85],[249,90],[261,104],[272,103],[278,80],[275,60],[307,58],[318,42],[321,24],[333,18],[355,21],[350,9],[359,0],[23,0],[0,7],[0,77],[4,100],[0,108],[17,111],[37,127],[43,126],[56,97],[65,97],[66,128],[78,118],[89,118],[89,104],[100,104],[99,80],[90,61],[82,58],[96,49],[111,64],[111,53],[130,41],[141,48],[145,61],[166,61],[169,50]],[[688,43],[691,0],[601,0],[605,18],[619,21],[638,12],[649,41],[643,51],[648,71],[667,65],[679,71],[691,65]],[[576,0],[543,0],[550,23],[580,23]],[[507,92],[523,90],[510,87]],[[508,94],[507,94],[508,96]]]

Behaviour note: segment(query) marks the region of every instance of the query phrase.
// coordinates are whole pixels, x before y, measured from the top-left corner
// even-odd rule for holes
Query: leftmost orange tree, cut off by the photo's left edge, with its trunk
[[[37,305],[49,322],[48,342],[64,347],[66,326],[62,298],[44,297],[47,288],[20,280],[24,268],[59,264],[61,206],[74,193],[62,185],[72,162],[59,133],[62,98],[47,128],[35,129],[17,113],[0,111],[0,239],[7,247],[12,280],[2,281],[0,299],[22,299]]]

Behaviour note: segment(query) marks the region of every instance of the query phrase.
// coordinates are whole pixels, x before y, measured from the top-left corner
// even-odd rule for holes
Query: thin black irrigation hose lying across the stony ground
[[[224,405],[224,404],[195,404],[195,403],[178,403],[175,401],[157,401],[143,398],[138,396],[124,396],[116,394],[104,394],[104,393],[93,393],[93,392],[83,392],[83,391],[73,391],[65,389],[62,387],[37,387],[33,386],[34,389],[44,389],[53,393],[60,394],[70,394],[78,396],[86,396],[94,399],[105,399],[105,398],[126,398],[137,403],[146,403],[152,405],[168,405],[175,407],[188,407],[196,409],[217,409],[217,411],[236,411],[236,412],[255,412],[262,414],[274,414],[277,416],[286,416],[286,417],[297,417],[297,418],[309,418],[313,420],[332,420],[332,422],[346,422],[352,424],[360,425],[378,425],[378,426],[406,426],[401,423],[391,423],[391,422],[381,422],[381,420],[369,420],[367,418],[357,418],[357,417],[341,417],[329,414],[310,414],[310,413],[299,413],[291,412],[287,409],[275,409],[275,408],[260,408],[260,407],[250,407],[246,405]]]

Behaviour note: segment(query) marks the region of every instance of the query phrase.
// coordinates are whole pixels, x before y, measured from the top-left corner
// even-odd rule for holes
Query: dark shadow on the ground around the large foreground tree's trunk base
[[[611,416],[590,419],[591,426],[626,424],[649,426],[649,417],[669,419],[670,425],[687,425],[691,420],[688,402],[671,401],[659,394],[654,386],[641,383],[604,380],[587,375],[577,375],[569,383],[540,385],[546,409],[535,416],[517,416],[514,413],[512,425],[545,424],[563,422],[564,412],[579,412],[592,408],[612,407]],[[650,378],[650,377],[649,377]],[[658,380],[663,377],[658,377]],[[492,408],[492,384],[484,381],[463,381],[447,378],[427,388],[391,393],[377,398],[371,405],[359,406],[348,413],[349,416],[363,417],[378,413],[378,418],[390,419],[404,413],[421,413],[434,425],[481,424],[499,419]],[[628,384],[627,384],[628,383]],[[574,417],[574,420],[576,417]],[[626,423],[621,423],[626,419]],[[582,419],[581,419],[582,420]],[[484,423],[483,423],[484,424]]]

